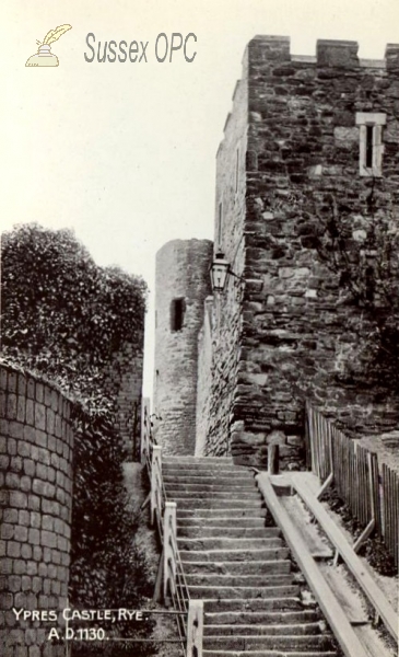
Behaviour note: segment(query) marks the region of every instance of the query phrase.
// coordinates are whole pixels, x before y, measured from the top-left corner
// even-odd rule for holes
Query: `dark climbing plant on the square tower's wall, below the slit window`
[[[359,348],[348,364],[348,377],[357,385],[399,391],[399,229],[394,212],[378,205],[375,181],[363,215],[354,217],[352,208],[330,194],[316,208],[316,245],[338,277],[341,302],[362,309],[356,322],[349,319]]]

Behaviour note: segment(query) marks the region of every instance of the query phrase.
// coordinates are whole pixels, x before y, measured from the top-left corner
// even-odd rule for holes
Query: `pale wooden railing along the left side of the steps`
[[[141,427],[141,462],[146,465],[151,483],[151,525],[156,526],[162,543],[155,598],[162,597],[166,604],[172,601],[185,657],[202,657],[203,602],[191,600],[188,591],[177,544],[177,505],[167,500],[162,449],[152,435],[149,400],[143,400]]]

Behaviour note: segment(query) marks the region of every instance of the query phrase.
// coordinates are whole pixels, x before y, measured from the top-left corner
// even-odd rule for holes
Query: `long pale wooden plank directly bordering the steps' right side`
[[[272,514],[277,525],[282,529],[284,539],[294,554],[300,568],[305,575],[306,581],[312,588],[344,655],[347,657],[354,657],[354,655],[356,657],[367,657],[367,653],[354,633],[345,612],[321,575],[305,541],[302,539],[286,510],[282,507],[281,502],[275,495],[269,475],[267,473],[260,473],[256,476],[256,480],[258,482],[258,487],[265,497],[268,509]]]

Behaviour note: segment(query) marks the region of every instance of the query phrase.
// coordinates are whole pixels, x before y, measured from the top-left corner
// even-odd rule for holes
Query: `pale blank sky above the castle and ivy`
[[[60,24],[58,68],[26,68],[36,39]],[[186,36],[172,62],[160,33]],[[86,62],[97,42],[149,42],[148,62]],[[156,251],[168,240],[213,238],[215,153],[256,34],[291,36],[315,55],[317,38],[353,39],[383,59],[399,42],[398,0],[1,0],[0,226],[73,228],[101,265],[146,280],[144,390],[152,385]],[[139,56],[141,53],[141,47]],[[119,53],[117,53],[119,54]]]

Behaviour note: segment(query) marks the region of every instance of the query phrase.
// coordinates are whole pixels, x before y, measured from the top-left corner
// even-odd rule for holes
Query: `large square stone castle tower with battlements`
[[[375,217],[398,221],[398,180],[399,45],[377,61],[355,42],[319,41],[315,57],[287,37],[248,44],[216,155],[214,253],[234,276],[200,332],[197,454],[265,465],[278,443],[283,466],[301,460],[305,400],[357,431],[398,422],[391,400],[340,380],[367,321],[318,247],[338,219],[347,252],[373,256],[359,243]]]

